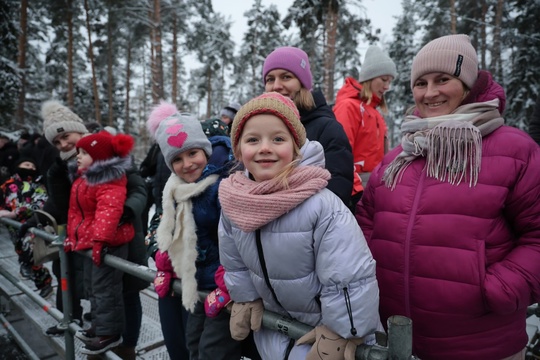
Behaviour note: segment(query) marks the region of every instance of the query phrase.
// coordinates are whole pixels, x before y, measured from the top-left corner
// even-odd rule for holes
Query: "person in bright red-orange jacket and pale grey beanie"
[[[358,81],[346,78],[336,96],[334,114],[349,138],[354,158],[353,210],[362,197],[369,174],[388,150],[386,123],[377,108],[387,112],[384,93],[396,76],[392,59],[372,45],[366,52]]]

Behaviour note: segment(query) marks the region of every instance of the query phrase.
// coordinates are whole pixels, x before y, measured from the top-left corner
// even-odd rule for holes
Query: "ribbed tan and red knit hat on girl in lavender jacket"
[[[300,122],[300,113],[294,102],[277,92],[268,92],[251,99],[236,113],[231,129],[233,149],[238,145],[246,122],[259,114],[271,114],[280,118],[287,125],[299,148],[306,142],[306,129]]]

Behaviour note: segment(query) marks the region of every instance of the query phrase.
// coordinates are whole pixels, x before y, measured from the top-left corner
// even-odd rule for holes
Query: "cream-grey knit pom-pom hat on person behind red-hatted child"
[[[43,134],[51,144],[58,135],[63,133],[88,133],[82,119],[57,100],[44,102],[41,106],[41,116],[43,117]]]

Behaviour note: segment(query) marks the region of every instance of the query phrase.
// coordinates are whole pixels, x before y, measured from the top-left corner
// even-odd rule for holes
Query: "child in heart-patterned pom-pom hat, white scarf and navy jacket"
[[[173,172],[163,188],[163,214],[155,233],[159,250],[154,287],[159,311],[167,314],[161,317],[165,346],[175,358],[181,350],[178,338],[185,334],[191,358],[239,360],[242,344],[231,337],[230,314],[207,317],[198,294],[217,288],[218,189],[232,165],[231,141],[226,136],[207,138],[193,115],[167,102],[153,109],[146,125]],[[181,296],[174,293],[175,278],[182,280]],[[178,320],[186,316],[179,314],[182,308],[189,311],[187,325]]]

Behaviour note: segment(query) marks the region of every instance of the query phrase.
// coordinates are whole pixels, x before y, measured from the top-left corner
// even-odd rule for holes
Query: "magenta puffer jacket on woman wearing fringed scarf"
[[[540,300],[540,148],[502,126],[482,142],[476,186],[427,177],[425,158],[394,191],[388,153],[356,209],[377,262],[381,320],[413,320],[423,360],[501,359],[527,344],[527,306]]]

